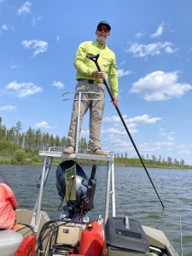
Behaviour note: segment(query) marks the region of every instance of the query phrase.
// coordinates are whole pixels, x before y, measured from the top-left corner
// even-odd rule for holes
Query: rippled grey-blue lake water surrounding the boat
[[[83,166],[90,176],[91,166]],[[0,172],[7,177],[20,207],[32,208],[38,194],[38,177],[41,166],[0,165]],[[44,189],[42,209],[51,218],[58,218],[61,201],[55,188],[55,170],[52,166]],[[106,188],[106,166],[97,166],[95,209],[90,219],[98,218],[104,209]],[[183,232],[183,256],[192,255],[192,172],[187,170],[148,169],[150,177],[165,205],[165,210],[157,198],[143,168],[115,167],[116,215],[138,218],[148,225],[166,233],[166,236],[181,255],[180,217]]]

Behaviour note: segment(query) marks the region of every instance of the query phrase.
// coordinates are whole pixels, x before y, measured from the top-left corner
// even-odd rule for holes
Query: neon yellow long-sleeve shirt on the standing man
[[[118,96],[118,77],[116,69],[116,58],[111,49],[106,45],[101,47],[97,41],[87,41],[79,45],[77,50],[74,67],[77,69],[76,79],[92,79],[102,82],[102,79],[96,79],[91,74],[97,70],[96,64],[87,58],[87,55],[99,54],[98,63],[102,72],[108,74],[108,83],[113,96]]]

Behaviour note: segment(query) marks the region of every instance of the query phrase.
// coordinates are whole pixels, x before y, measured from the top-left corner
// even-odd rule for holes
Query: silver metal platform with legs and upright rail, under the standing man
[[[62,95],[66,96],[69,93]],[[77,100],[82,100],[82,93],[79,92],[79,98]],[[64,99],[69,100],[69,99]],[[76,99],[74,99],[76,100]],[[80,109],[80,106],[79,106]],[[80,111],[79,111],[80,113]],[[79,115],[78,115],[78,123],[79,123]],[[62,159],[73,159],[73,160],[92,160],[92,161],[106,161],[107,162],[107,183],[106,183],[106,195],[105,195],[105,209],[104,209],[104,224],[106,224],[108,220],[108,212],[109,212],[109,204],[110,198],[112,200],[112,216],[115,217],[115,189],[114,189],[114,154],[113,152],[109,152],[108,155],[96,155],[96,154],[88,154],[89,150],[85,150],[84,154],[79,153],[79,130],[77,129],[76,136],[76,150],[73,154],[64,154],[64,148],[61,147],[50,147],[48,151],[40,151],[39,155],[44,158],[44,164],[41,172],[41,176],[39,178],[38,183],[38,197],[35,203],[35,207],[33,208],[32,214],[32,228],[35,232],[38,232],[38,225],[41,219],[41,206],[42,206],[42,198],[44,193],[44,186],[49,177],[49,171],[52,166],[52,162],[54,158],[62,158]]]

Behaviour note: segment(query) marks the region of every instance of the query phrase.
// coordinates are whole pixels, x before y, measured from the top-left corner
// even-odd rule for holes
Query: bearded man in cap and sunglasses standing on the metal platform
[[[118,77],[116,69],[116,58],[111,49],[108,48],[106,41],[109,38],[111,26],[108,22],[101,21],[96,27],[96,41],[87,41],[79,45],[77,50],[74,67],[77,69],[76,93],[82,92],[80,124],[81,129],[84,113],[90,109],[90,154],[108,155],[101,147],[101,125],[102,113],[105,100],[105,84],[102,79],[108,75],[108,83],[113,95],[113,105],[118,106]],[[87,58],[87,55],[99,54],[98,63],[102,72],[97,71],[93,61]],[[87,94],[86,94],[87,92]],[[93,92],[90,94],[88,92]],[[97,95],[96,95],[97,94]],[[98,94],[101,99],[98,99]],[[75,99],[78,99],[78,94]],[[95,98],[94,100],[90,100]],[[68,148],[63,150],[64,153],[73,154],[75,152],[76,135],[78,119],[78,101],[73,102],[73,113],[71,125],[68,131]]]

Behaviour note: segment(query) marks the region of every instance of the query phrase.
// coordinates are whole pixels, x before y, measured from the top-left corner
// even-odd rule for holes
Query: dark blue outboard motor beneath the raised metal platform
[[[81,219],[82,214],[90,211],[96,189],[96,165],[93,166],[90,179],[74,160],[62,162],[56,169],[56,188],[61,201],[67,202],[69,218]],[[64,209],[64,208],[63,208]]]

